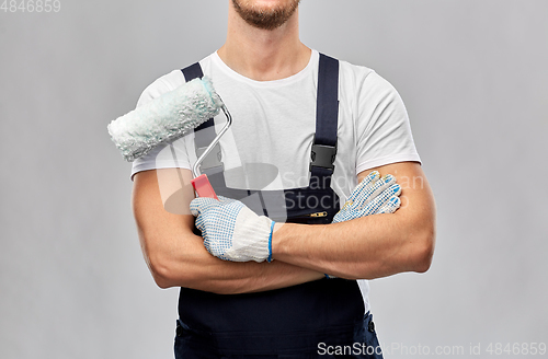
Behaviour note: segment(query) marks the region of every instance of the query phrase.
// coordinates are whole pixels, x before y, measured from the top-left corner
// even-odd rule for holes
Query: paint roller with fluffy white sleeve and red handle
[[[207,175],[199,175],[198,169],[232,125],[232,117],[208,78],[194,79],[156,97],[114,119],[109,124],[107,129],[112,141],[124,159],[135,161],[155,147],[184,136],[218,115],[220,111],[227,117],[227,123],[192,167],[194,176],[192,186],[197,195],[218,199]]]

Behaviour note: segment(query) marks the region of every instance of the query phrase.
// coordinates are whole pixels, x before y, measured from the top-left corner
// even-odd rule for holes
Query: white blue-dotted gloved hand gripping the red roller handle
[[[270,262],[274,222],[239,200],[218,198],[199,197],[191,202],[207,252],[225,260]]]

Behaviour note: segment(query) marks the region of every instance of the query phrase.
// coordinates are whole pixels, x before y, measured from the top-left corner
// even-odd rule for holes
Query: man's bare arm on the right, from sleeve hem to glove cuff
[[[326,225],[276,224],[273,258],[342,278],[427,270],[435,241],[435,205],[422,169],[400,163],[379,172],[395,174],[402,184],[402,207],[396,213]],[[409,178],[420,178],[420,186]]]

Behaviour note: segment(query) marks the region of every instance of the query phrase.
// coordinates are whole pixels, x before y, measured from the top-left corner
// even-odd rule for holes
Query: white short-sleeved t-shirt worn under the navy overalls
[[[246,188],[227,177],[228,187],[289,189],[309,184],[310,149],[316,131],[316,97],[319,53],[300,72],[282,80],[254,81],[230,69],[214,53],[199,61],[205,76],[229,109],[233,124],[221,138],[225,170],[249,163],[275,166],[278,175],[267,187]],[[162,76],[141,94],[140,106],[185,83],[181,70]],[[225,125],[222,113],[215,117],[217,132]],[[175,155],[173,155],[175,153]],[[159,146],[133,163],[135,173],[152,169],[191,169],[196,161],[194,134]],[[409,118],[393,86],[366,67],[340,61],[338,151],[332,189],[344,204],[357,185],[356,175],[395,162],[420,162]],[[362,283],[366,310],[368,286]]]

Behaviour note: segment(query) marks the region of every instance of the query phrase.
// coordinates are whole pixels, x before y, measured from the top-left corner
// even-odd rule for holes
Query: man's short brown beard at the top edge
[[[297,10],[300,0],[292,0],[288,5],[272,9],[258,9],[249,0],[232,0],[236,12],[252,26],[274,30],[287,22]]]

